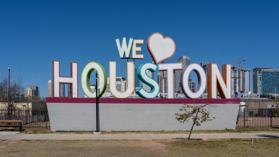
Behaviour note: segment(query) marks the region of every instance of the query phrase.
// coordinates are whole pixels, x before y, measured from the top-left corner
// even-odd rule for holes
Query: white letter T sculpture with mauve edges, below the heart
[[[158,70],[167,70],[168,76],[168,98],[174,98],[174,70],[183,69],[182,63],[158,64]]]

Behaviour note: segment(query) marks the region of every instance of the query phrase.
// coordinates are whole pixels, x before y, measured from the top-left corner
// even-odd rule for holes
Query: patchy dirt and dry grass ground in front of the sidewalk
[[[1,140],[1,156],[278,156],[279,139]]]

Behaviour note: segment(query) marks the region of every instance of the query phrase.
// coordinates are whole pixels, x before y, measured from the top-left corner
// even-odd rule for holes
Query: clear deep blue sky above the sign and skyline
[[[22,85],[35,84],[47,96],[52,60],[60,60],[61,75],[68,76],[70,62],[83,67],[100,63],[109,73],[117,62],[117,75],[126,77],[115,39],[143,39],[144,60],[151,62],[146,40],[160,32],[176,42],[176,53],[191,63],[231,63],[246,59],[243,68],[279,68],[278,1],[1,1],[0,72],[24,74]],[[251,75],[253,73],[251,72]],[[194,75],[191,75],[194,80]],[[253,81],[253,80],[251,80]],[[253,89],[252,89],[253,91]],[[83,96],[81,83],[79,94]]]

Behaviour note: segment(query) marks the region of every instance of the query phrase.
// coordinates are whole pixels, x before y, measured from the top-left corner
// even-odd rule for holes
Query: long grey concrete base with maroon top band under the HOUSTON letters
[[[185,104],[210,103],[211,122],[195,130],[235,129],[240,99],[99,99],[101,131],[190,130],[192,121],[181,124],[175,113]],[[47,98],[52,131],[95,131],[94,98]]]

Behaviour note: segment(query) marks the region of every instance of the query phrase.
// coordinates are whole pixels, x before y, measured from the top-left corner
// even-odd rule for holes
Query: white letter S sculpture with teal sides
[[[160,91],[159,84],[157,83],[157,81],[155,81],[154,79],[152,79],[151,77],[146,75],[146,70],[149,70],[151,72],[155,72],[157,67],[158,66],[156,64],[153,64],[153,63],[144,63],[144,64],[140,65],[140,67],[137,69],[137,76],[139,77],[139,79],[151,88],[150,92],[147,92],[142,87],[139,88],[136,91],[136,93],[140,97],[142,97],[142,98],[155,98],[155,97],[157,97],[157,95]]]

